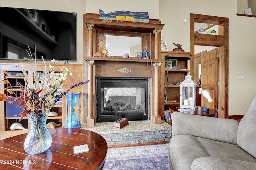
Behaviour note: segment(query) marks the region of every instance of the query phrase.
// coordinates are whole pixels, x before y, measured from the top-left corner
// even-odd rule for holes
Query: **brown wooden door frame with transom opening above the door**
[[[200,28],[208,28],[206,32],[199,32]],[[218,28],[218,34],[212,32]],[[209,30],[210,29],[210,30]],[[210,31],[210,32],[208,32]],[[216,30],[215,30],[216,31]],[[216,83],[216,103],[218,117],[228,118],[228,18],[218,16],[207,16],[200,14],[190,14],[190,53],[192,53],[192,65],[190,71],[194,77],[196,61],[194,60],[196,46],[218,47],[218,83]],[[202,51],[204,51],[203,49]],[[197,51],[196,53],[202,52]],[[216,56],[217,57],[217,56]],[[195,77],[194,77],[195,78]]]

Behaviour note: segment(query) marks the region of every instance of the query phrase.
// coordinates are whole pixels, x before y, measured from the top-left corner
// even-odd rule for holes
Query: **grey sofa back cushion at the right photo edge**
[[[256,110],[247,111],[237,130],[237,144],[246,152],[256,157]]]

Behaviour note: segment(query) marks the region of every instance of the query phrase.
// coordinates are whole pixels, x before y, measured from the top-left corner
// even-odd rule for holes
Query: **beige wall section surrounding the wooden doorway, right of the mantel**
[[[190,13],[229,18],[228,110],[229,115],[243,115],[256,93],[256,18],[237,16],[234,0],[160,0],[159,16],[165,24],[162,39],[168,49],[174,48],[172,43],[180,43],[185,51],[190,51]],[[184,18],[188,20],[186,24],[182,22]],[[237,80],[238,75],[244,75],[245,79]]]

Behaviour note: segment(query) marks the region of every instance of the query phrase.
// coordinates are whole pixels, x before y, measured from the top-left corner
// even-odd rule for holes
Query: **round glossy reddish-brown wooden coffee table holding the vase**
[[[2,169],[102,169],[106,160],[108,145],[95,132],[84,129],[49,129],[52,144],[41,154],[28,154],[23,143],[27,134],[20,134],[0,140],[0,167]],[[89,152],[74,154],[73,147],[88,144]]]

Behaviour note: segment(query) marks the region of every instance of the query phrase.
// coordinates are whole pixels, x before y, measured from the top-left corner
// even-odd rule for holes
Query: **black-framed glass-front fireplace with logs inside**
[[[148,78],[97,77],[97,122],[148,120]]]

